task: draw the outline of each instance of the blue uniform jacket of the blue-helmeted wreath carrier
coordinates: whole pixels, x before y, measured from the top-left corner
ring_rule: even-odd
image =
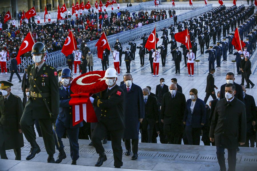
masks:
[[[73,126],[72,125],[72,106],[69,105],[71,99],[71,90],[69,88],[69,94],[67,94],[65,87],[63,85],[59,88],[60,95],[60,110],[59,115],[56,119],[56,124],[62,122],[66,128],[79,128],[83,126],[83,122]]]

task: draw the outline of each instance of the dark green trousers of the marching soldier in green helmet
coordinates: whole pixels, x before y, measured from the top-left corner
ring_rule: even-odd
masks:
[[[55,139],[53,134],[53,122],[55,122],[55,119],[38,119],[38,121],[47,154],[53,155],[55,154]],[[30,144],[37,143],[34,124],[35,119],[32,118],[32,110],[26,113],[24,112],[21,117],[20,125],[23,134]]]

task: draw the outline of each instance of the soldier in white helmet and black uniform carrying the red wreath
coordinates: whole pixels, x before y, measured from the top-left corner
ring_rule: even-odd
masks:
[[[102,166],[107,160],[102,139],[106,137],[107,132],[111,135],[113,158],[115,168],[120,168],[122,162],[121,139],[124,132],[124,114],[123,114],[123,90],[116,84],[117,71],[114,68],[108,68],[105,72],[105,83],[108,89],[101,92],[101,97],[90,97],[94,106],[101,108],[100,120],[97,123],[93,133],[92,142],[99,158],[95,166]]]

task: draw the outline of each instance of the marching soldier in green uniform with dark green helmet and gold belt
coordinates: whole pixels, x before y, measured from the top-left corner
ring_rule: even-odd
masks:
[[[44,62],[45,45],[37,42],[32,47],[33,61],[27,72],[29,76],[30,97],[26,103],[21,117],[21,129],[31,145],[31,150],[26,160],[31,160],[40,148],[34,135],[34,120],[38,119],[45,149],[47,151],[47,162],[54,163],[55,139],[53,134],[53,122],[59,114],[59,87],[57,70]]]

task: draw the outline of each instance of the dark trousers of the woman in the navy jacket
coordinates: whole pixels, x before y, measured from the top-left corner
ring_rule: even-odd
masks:
[[[192,126],[186,125],[186,137],[188,145],[200,145],[200,133],[201,128],[192,128]]]

